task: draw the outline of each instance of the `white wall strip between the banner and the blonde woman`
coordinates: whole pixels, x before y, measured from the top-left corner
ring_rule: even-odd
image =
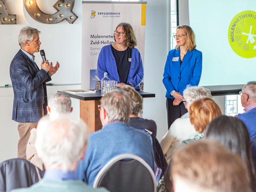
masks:
[[[143,118],[157,123],[157,138],[167,131],[165,87],[162,83],[169,49],[169,1],[149,0],[145,31],[144,91],[155,93],[155,98],[143,99]]]

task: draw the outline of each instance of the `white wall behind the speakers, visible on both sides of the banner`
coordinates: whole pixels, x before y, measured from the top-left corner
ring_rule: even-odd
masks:
[[[55,12],[52,8],[56,1],[41,0],[39,4],[48,14]],[[18,34],[23,26],[30,25],[42,31],[40,37],[46,57],[54,63],[60,62],[59,71],[53,76],[52,83],[81,83],[81,39],[82,39],[82,0],[76,0],[74,12],[79,16],[74,24],[63,21],[47,25],[34,21],[26,13],[21,0],[6,1],[10,14],[17,15],[17,25],[0,25],[0,86],[11,84],[9,66],[19,50]],[[158,139],[167,131],[167,114],[165,88],[162,83],[164,65],[169,47],[169,1],[149,0],[145,31],[145,70],[144,91],[156,94],[156,98],[145,98],[143,117],[153,119],[158,126]],[[90,27],[90,26],[88,26]],[[36,63],[41,63],[39,53],[35,54]],[[40,66],[39,66],[40,67]],[[89,77],[88,77],[89,78]],[[80,89],[81,86],[48,87],[48,96],[64,89]],[[17,123],[12,121],[13,90],[0,88],[0,162],[17,157],[18,131]],[[74,114],[79,116],[79,101],[72,99]]]

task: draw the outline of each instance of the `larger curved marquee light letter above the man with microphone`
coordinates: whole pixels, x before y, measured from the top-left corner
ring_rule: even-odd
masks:
[[[35,21],[46,24],[55,24],[67,20],[68,23],[73,24],[78,19],[78,16],[74,12],[72,12],[75,5],[75,0],[57,1],[56,4],[54,4],[53,6],[57,10],[57,12],[52,15],[48,15],[42,12],[39,9],[36,1],[37,0],[24,0],[24,5],[27,13]]]

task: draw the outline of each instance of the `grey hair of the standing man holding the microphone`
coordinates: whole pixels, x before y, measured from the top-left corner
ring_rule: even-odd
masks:
[[[20,30],[20,34],[19,34],[19,46],[20,48],[25,46],[25,41],[28,40],[29,42],[32,42],[34,39],[34,34],[35,33],[40,33],[41,31],[39,31],[38,29],[32,28],[30,26],[26,26],[23,27]]]

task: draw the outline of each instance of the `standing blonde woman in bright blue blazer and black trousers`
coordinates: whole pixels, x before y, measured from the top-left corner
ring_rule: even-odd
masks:
[[[182,102],[183,91],[187,85],[198,86],[202,73],[202,52],[196,50],[192,28],[178,26],[173,37],[177,45],[168,53],[163,75],[168,129],[177,118],[188,112]]]

